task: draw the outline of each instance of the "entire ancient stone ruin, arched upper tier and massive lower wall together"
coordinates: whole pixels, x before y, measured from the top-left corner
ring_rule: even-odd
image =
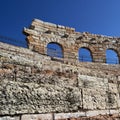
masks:
[[[119,38],[76,32],[33,20],[24,28],[28,48],[0,42],[0,120],[119,120]],[[61,46],[48,54],[47,45]],[[87,48],[91,62],[79,60]],[[55,55],[53,53],[55,52]]]

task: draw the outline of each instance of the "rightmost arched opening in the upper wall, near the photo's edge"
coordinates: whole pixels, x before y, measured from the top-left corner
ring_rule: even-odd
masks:
[[[107,64],[119,64],[118,54],[113,49],[106,50],[106,63]]]

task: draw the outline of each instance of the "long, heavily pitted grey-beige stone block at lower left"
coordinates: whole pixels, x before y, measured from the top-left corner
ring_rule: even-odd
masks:
[[[2,80],[0,114],[76,111],[81,107],[78,88]]]

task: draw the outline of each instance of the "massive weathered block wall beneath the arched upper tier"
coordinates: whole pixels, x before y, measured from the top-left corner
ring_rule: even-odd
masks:
[[[119,81],[119,65],[64,63],[0,43],[1,120],[119,113]]]

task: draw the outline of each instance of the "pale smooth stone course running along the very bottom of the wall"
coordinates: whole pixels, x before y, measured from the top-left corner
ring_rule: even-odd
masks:
[[[112,120],[119,120],[119,110],[95,110],[75,113],[46,113],[46,114],[24,114],[18,116],[3,116],[0,120],[93,120],[97,116],[111,117]],[[115,119],[114,119],[115,118]],[[92,120],[92,119],[90,119]],[[101,120],[101,119],[100,119]],[[104,119],[102,119],[104,120]],[[107,118],[105,119],[107,120]]]

